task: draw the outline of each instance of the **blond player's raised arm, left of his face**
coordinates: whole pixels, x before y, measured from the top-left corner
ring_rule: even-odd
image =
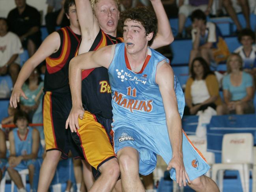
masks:
[[[88,52],[99,33],[99,24],[94,17],[90,0],[75,0],[82,40],[78,54]]]

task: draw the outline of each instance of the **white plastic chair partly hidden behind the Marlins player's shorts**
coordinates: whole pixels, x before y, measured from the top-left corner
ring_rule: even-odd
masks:
[[[215,155],[212,152],[207,151],[207,140],[206,138],[199,138],[196,135],[188,135],[189,140],[194,144],[194,146],[204,155],[207,163],[211,166],[211,164],[215,163]],[[210,171],[206,173],[206,176],[210,177]],[[183,191],[183,186],[179,187],[179,185],[173,181],[173,192]]]

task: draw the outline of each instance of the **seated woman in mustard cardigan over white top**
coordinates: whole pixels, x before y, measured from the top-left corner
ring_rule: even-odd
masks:
[[[208,106],[216,109],[222,104],[217,78],[202,57],[194,58],[191,63],[191,77],[187,80],[185,101],[187,106],[184,115],[195,115],[200,110],[206,110]]]

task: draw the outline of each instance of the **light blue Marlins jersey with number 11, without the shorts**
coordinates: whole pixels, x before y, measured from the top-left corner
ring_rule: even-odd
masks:
[[[142,71],[131,70],[125,54],[125,44],[116,45],[114,58],[108,67],[112,89],[113,119],[149,124],[166,122],[163,100],[155,82],[157,65],[169,60],[155,50],[148,48],[148,56]],[[179,114],[183,115],[185,99],[178,79],[174,76]]]

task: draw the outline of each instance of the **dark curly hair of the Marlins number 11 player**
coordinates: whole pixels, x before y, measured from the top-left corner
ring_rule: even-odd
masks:
[[[140,24],[142,24],[142,26],[145,28],[145,36],[153,32],[153,37],[148,42],[148,46],[152,45],[155,35],[157,34],[157,17],[155,15],[155,12],[151,8],[136,7],[125,10],[121,13],[120,17],[122,27],[126,20],[140,22]]]

